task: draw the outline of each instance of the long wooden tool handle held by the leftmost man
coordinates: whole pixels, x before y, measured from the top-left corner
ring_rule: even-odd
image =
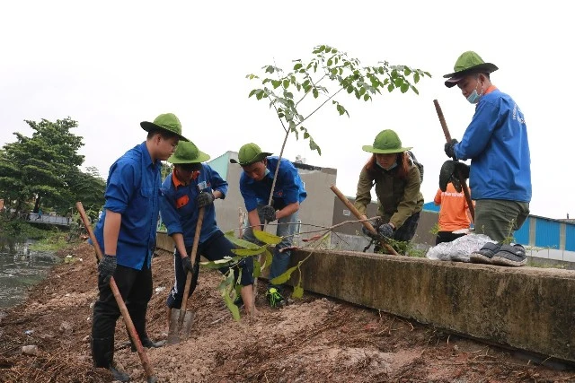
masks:
[[[96,250],[96,257],[98,257],[98,260],[101,261],[102,248],[100,248],[98,240],[93,235],[92,226],[90,225],[88,217],[86,217],[86,213],[84,212],[84,206],[81,202],[76,202],[75,208],[78,210],[78,213],[80,213],[80,218],[82,218],[82,222],[84,222],[86,231],[88,231],[88,236],[90,239],[92,239],[93,248]],[[142,367],[144,367],[144,370],[146,371],[146,377],[148,378],[148,381],[154,381],[154,379],[156,379],[154,376],[154,370],[152,369],[150,361],[147,359],[147,355],[144,351],[144,347],[142,347],[140,337],[137,335],[136,327],[134,327],[134,322],[132,322],[132,318],[129,316],[128,308],[126,307],[124,300],[122,300],[122,296],[118,290],[118,285],[116,284],[113,276],[110,278],[110,288],[111,292],[114,294],[116,302],[118,303],[119,312],[122,314],[122,318],[124,318],[124,322],[128,328],[128,334],[130,338],[132,338],[132,342],[134,342],[136,345],[137,355],[140,357],[140,361],[142,361]]]

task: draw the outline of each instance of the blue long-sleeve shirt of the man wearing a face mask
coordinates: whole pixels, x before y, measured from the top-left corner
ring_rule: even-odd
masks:
[[[484,94],[456,157],[471,159],[472,199],[531,201],[531,158],[523,113],[508,94]]]

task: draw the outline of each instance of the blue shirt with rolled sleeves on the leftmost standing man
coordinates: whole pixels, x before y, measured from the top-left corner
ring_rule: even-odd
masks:
[[[146,142],[130,149],[111,165],[106,202],[94,235],[104,251],[106,210],[122,214],[116,259],[118,265],[141,270],[152,265],[160,196],[160,161],[152,162]]]

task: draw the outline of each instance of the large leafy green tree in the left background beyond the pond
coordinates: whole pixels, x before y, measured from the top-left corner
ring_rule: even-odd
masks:
[[[71,133],[77,122],[64,118],[26,123],[34,131],[31,137],[16,132],[16,141],[0,150],[0,195],[14,209],[13,215],[24,211],[27,203],[34,213],[45,205],[63,215],[78,199],[88,206],[102,205],[103,179],[95,169],[79,169],[84,156],[78,150],[84,144],[81,136]]]

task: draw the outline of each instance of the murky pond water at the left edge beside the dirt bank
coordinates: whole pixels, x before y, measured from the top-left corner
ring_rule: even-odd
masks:
[[[31,243],[0,239],[0,311],[25,300],[28,289],[44,279],[59,261],[51,252],[30,250]]]

